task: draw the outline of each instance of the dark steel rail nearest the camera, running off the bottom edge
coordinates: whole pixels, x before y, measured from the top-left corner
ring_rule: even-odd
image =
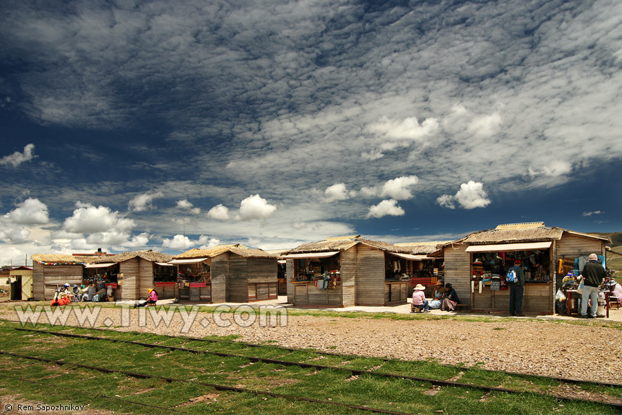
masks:
[[[358,409],[358,410],[361,410],[361,411],[376,412],[376,413],[379,413],[379,414],[414,415],[414,414],[409,414],[409,413],[406,413],[406,412],[395,412],[395,411],[388,411],[386,409],[378,409],[378,408],[372,408],[372,407],[367,407],[367,406],[359,406],[359,405],[350,405],[348,403],[339,403],[339,402],[334,402],[332,400],[320,400],[320,399],[313,399],[313,398],[305,398],[303,396],[275,394],[274,392],[257,391],[257,390],[254,390],[254,389],[244,389],[244,388],[233,387],[233,386],[226,386],[226,385],[216,385],[214,383],[199,382],[197,380],[167,378],[167,377],[164,377],[164,376],[156,376],[156,375],[149,375],[149,374],[139,374],[139,373],[129,372],[129,371],[107,369],[105,367],[95,367],[95,366],[81,365],[79,363],[66,362],[64,360],[53,360],[53,359],[48,359],[48,358],[39,358],[37,356],[21,355],[21,354],[18,354],[18,353],[11,353],[11,352],[8,352],[8,351],[0,351],[0,355],[12,356],[14,358],[20,358],[20,359],[39,360],[41,362],[54,363],[55,365],[59,365],[59,366],[62,366],[62,365],[74,366],[74,367],[79,367],[81,369],[89,369],[89,370],[100,371],[100,372],[105,373],[105,374],[122,374],[122,375],[125,375],[125,376],[131,376],[133,378],[139,378],[139,379],[159,379],[159,380],[164,380],[166,382],[193,383],[195,385],[202,385],[202,386],[211,387],[211,388],[214,388],[214,389],[216,389],[218,391],[231,391],[231,392],[239,392],[239,393],[246,392],[246,393],[255,394],[255,395],[272,396],[273,398],[285,398],[285,399],[290,399],[290,400],[301,400],[303,402],[319,403],[319,404],[325,404],[325,405],[336,405],[336,406],[340,406],[340,407],[348,407],[350,409]]]

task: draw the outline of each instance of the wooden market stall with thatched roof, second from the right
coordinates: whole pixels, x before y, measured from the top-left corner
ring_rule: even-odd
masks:
[[[405,250],[359,235],[305,243],[287,260],[288,302],[296,306],[406,304],[411,286]]]

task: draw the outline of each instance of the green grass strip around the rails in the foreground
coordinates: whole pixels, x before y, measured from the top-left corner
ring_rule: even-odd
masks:
[[[18,324],[0,322],[3,351],[28,354],[57,360],[133,371],[170,378],[196,380],[197,382],[244,387],[257,391],[306,396],[352,405],[368,405],[381,409],[413,414],[614,414],[616,411],[592,403],[565,402],[563,406],[555,398],[531,393],[517,396],[462,387],[435,389],[429,382],[408,379],[382,378],[371,374],[352,376],[349,371],[326,369],[316,371],[301,367],[281,366],[256,362],[249,364],[243,357],[223,358],[214,355],[196,355],[185,351],[149,349],[133,344],[121,344],[102,340],[59,338],[49,334],[29,333],[12,329]],[[58,330],[58,328],[55,328]],[[153,333],[101,332],[88,329],[66,328],[71,333],[89,333],[123,340],[140,339],[144,342],[184,341]],[[481,385],[513,387],[527,391],[546,391],[558,386],[547,378],[511,375],[478,368],[450,367],[432,360],[415,362],[384,362],[377,358],[354,358],[352,356],[323,356],[315,351],[248,348],[243,344],[218,344],[188,342],[187,347],[200,344],[218,351],[247,353],[255,356],[279,355],[283,360],[314,362],[319,365],[341,365],[408,376],[451,379],[462,376],[460,382]],[[88,369],[57,366],[0,356],[0,374],[11,374],[24,380],[0,376],[0,388],[19,391],[24,400],[39,403],[86,403],[91,409],[106,409],[119,414],[164,414],[185,412],[202,414],[359,414],[355,409],[334,405],[304,403],[284,398],[255,396],[254,394],[218,392],[196,382],[166,383],[156,379],[140,380],[121,374],[101,374]],[[590,386],[587,386],[589,389]],[[608,388],[611,396],[621,396],[622,387]],[[587,390],[586,389],[586,390]],[[430,393],[430,392],[433,393]],[[6,393],[6,392],[5,392]],[[115,396],[135,403],[149,403],[167,409],[147,408],[140,405],[113,400]],[[106,397],[102,397],[106,396]],[[210,397],[211,398],[206,398]],[[198,398],[198,399],[197,399]],[[216,399],[216,400],[214,400]],[[183,405],[183,406],[178,406]]]

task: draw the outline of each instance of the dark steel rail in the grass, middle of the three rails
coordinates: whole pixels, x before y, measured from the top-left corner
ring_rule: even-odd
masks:
[[[414,380],[414,381],[417,381],[417,382],[428,382],[428,383],[430,383],[431,385],[434,385],[434,386],[466,387],[466,388],[469,388],[469,389],[480,389],[482,391],[487,391],[487,392],[491,392],[491,391],[506,392],[508,394],[539,394],[539,395],[543,395],[543,396],[550,396],[552,398],[561,399],[561,400],[568,400],[568,401],[572,401],[572,402],[603,403],[603,402],[599,402],[599,401],[596,401],[596,400],[590,400],[590,399],[569,398],[569,397],[565,397],[565,396],[556,396],[555,394],[543,394],[543,393],[540,393],[538,391],[520,391],[520,390],[517,390],[517,389],[506,389],[506,388],[501,388],[501,387],[474,385],[474,384],[471,384],[471,383],[454,382],[454,381],[451,381],[451,380],[437,380],[437,379],[431,379],[431,378],[420,378],[420,377],[416,377],[416,376],[406,376],[406,375],[390,374],[390,373],[378,372],[378,371],[348,369],[347,367],[315,365],[313,363],[292,362],[292,361],[289,361],[289,360],[276,360],[276,359],[271,359],[271,358],[259,358],[259,357],[256,357],[256,356],[236,355],[236,354],[232,354],[232,353],[222,353],[222,352],[217,352],[217,351],[205,351],[205,350],[197,350],[197,349],[187,349],[186,347],[165,346],[163,344],[152,344],[152,343],[144,343],[144,342],[135,342],[135,341],[132,341],[132,340],[121,340],[121,339],[113,339],[113,338],[100,338],[100,337],[91,336],[91,335],[82,335],[82,334],[74,334],[74,333],[62,333],[62,332],[58,332],[58,331],[37,330],[37,329],[15,328],[15,330],[18,330],[18,331],[29,331],[29,332],[35,332],[35,333],[48,334],[48,335],[57,335],[59,337],[66,337],[66,338],[84,338],[86,340],[105,340],[105,341],[109,341],[109,342],[120,342],[120,343],[124,343],[124,344],[135,344],[137,346],[149,347],[149,348],[169,349],[171,351],[187,351],[189,353],[195,353],[195,354],[211,354],[211,355],[225,357],[225,358],[245,358],[245,359],[249,360],[250,362],[264,362],[264,363],[270,363],[270,364],[275,364],[275,365],[297,366],[297,367],[304,367],[304,368],[317,369],[317,370],[332,369],[332,370],[339,370],[339,371],[349,371],[352,375],[357,375],[357,376],[361,376],[361,375],[367,374],[367,375],[370,375],[370,376],[378,376],[378,377],[384,377],[384,378],[397,378],[397,379]],[[620,403],[620,404],[619,403],[603,403],[603,404],[614,406],[616,408],[622,409],[622,403]]]

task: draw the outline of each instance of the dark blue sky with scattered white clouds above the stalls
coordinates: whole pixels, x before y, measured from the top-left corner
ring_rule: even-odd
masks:
[[[619,1],[0,10],[0,264],[622,230]]]

